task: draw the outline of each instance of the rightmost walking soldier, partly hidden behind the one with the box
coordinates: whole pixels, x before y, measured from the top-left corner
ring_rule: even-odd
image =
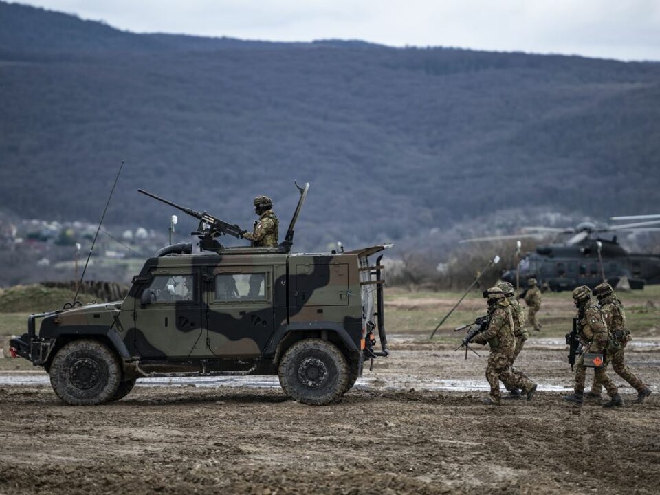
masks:
[[[608,283],[597,285],[592,294],[598,298],[598,305],[603,314],[605,323],[610,331],[610,335],[617,341],[619,347],[612,347],[609,352],[609,360],[612,362],[612,367],[621,378],[626,380],[637,391],[637,402],[642,402],[646,397],[651,395],[651,389],[644,385],[641,380],[632,373],[626,362],[624,361],[624,349],[632,337],[630,331],[626,329],[626,311],[624,305],[617,298],[614,289]],[[603,386],[593,381],[591,391],[585,395],[591,399],[599,399],[602,393]]]

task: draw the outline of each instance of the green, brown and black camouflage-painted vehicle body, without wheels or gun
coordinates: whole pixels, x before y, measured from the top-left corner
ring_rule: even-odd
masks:
[[[202,366],[205,371],[265,374],[263,367],[254,369],[256,364],[265,364],[267,373],[276,373],[277,346],[292,327],[300,332],[329,329],[345,352],[359,355],[365,329],[373,320],[371,290],[375,285],[369,284],[370,272],[365,270],[366,256],[371,254],[228,248],[218,254],[151,258],[123,302],[47,315],[37,334],[54,338],[85,335],[92,326],[111,329],[126,348],[125,373],[135,371],[131,364],[135,362],[146,371],[157,371],[158,366],[172,371],[173,361],[180,362],[177,371]],[[218,277],[221,283],[238,281],[231,298],[222,296],[228,292],[218,285]],[[162,285],[162,280],[168,284],[192,280],[192,287],[188,283],[185,290],[181,285]],[[259,287],[253,284],[255,280]],[[161,285],[156,287],[155,281]],[[148,289],[157,298],[145,303]],[[250,295],[254,291],[258,296]]]

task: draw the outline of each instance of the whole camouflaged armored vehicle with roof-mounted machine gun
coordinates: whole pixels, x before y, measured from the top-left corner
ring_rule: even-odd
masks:
[[[165,201],[200,219],[201,252],[163,248],[123,301],[33,314],[12,353],[43,366],[74,405],[121,399],[136,380],[158,376],[278,375],[296,401],[340,398],[365,360],[388,354],[383,256],[369,261],[388,245],[291,252],[308,188],[274,248],[225,248],[218,236],[244,231]]]

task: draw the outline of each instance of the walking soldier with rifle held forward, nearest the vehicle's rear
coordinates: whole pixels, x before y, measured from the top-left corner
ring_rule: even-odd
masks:
[[[483,292],[488,300],[488,328],[479,333],[472,342],[488,344],[490,355],[486,366],[486,380],[490,384],[490,396],[483,399],[484,404],[500,404],[500,380],[511,388],[519,388],[531,401],[536,393],[536,383],[524,375],[511,372],[511,362],[516,351],[514,337],[514,317],[511,316],[509,300],[499,287],[491,287]]]

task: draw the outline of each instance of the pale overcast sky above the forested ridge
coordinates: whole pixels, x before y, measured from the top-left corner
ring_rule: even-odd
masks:
[[[660,61],[660,0],[23,0],[134,32]]]

